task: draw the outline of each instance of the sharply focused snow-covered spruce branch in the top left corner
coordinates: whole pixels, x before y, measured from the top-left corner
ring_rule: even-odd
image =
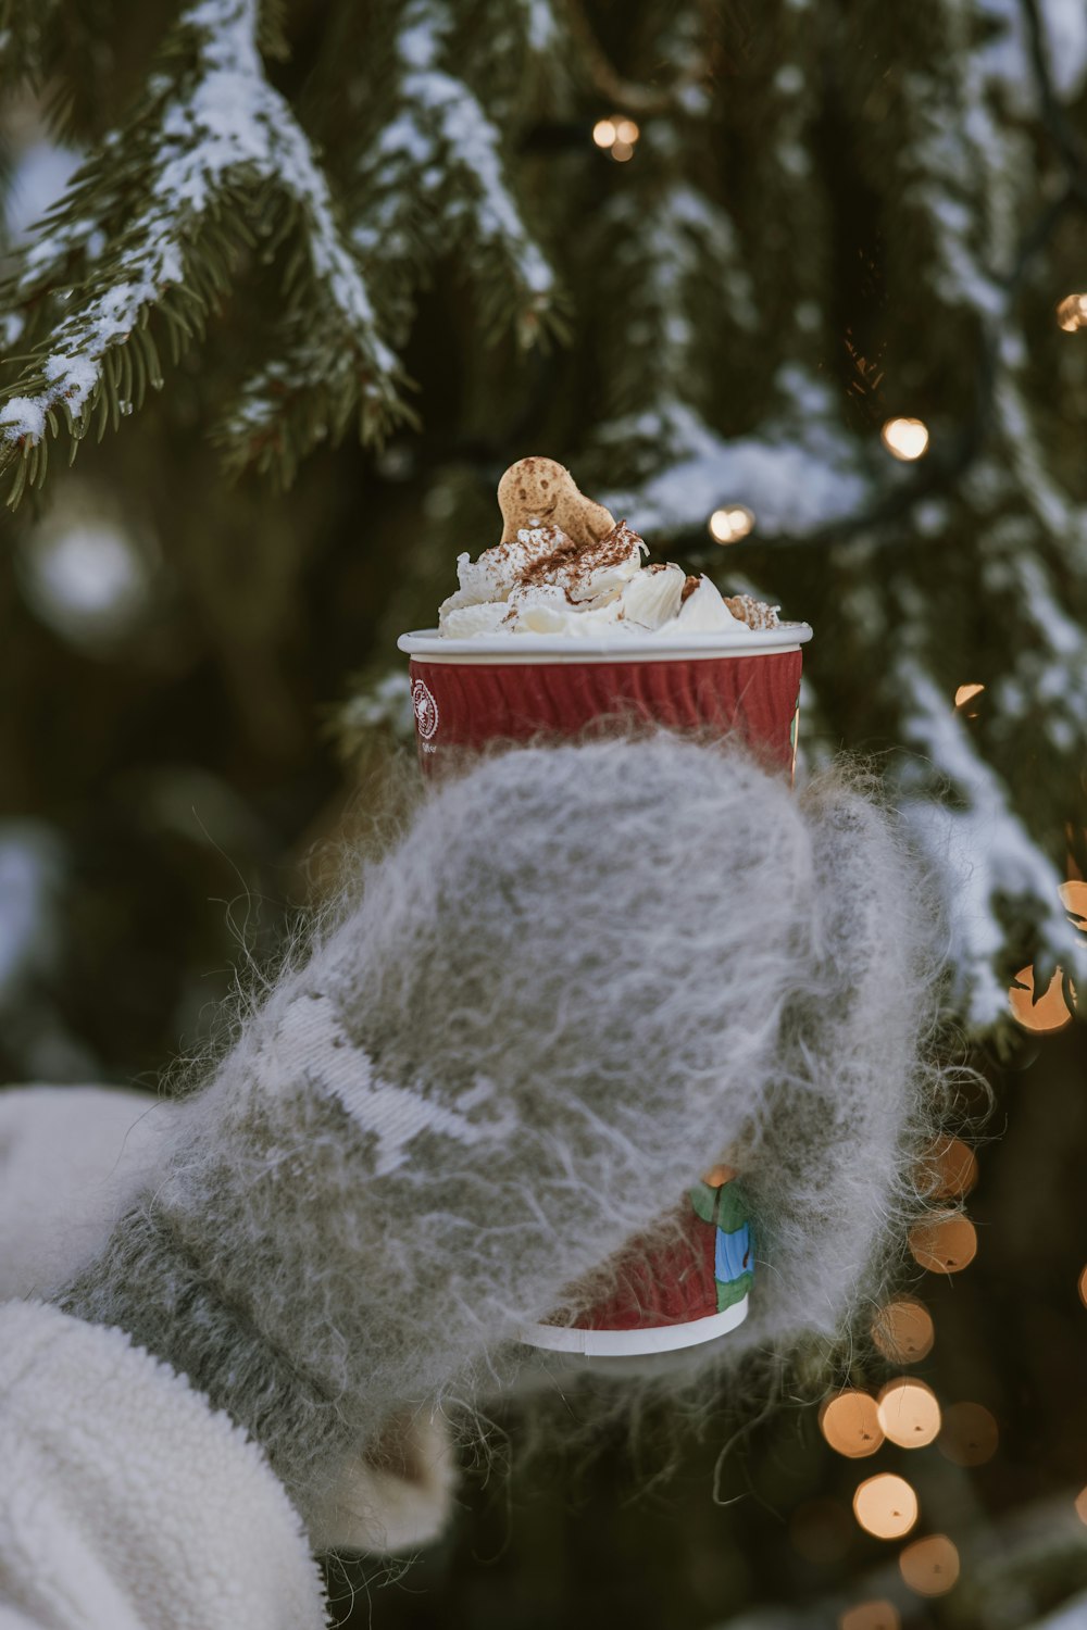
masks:
[[[106,394],[116,417],[130,411],[145,378],[161,383],[148,315],[168,318],[181,349],[222,295],[231,251],[269,231],[269,220],[279,240],[297,230],[305,246],[295,285],[306,285],[316,313],[311,350],[349,359],[367,422],[396,412],[396,359],[324,174],[288,103],[264,78],[256,39],[256,0],[189,7],[140,112],[106,139],[24,253],[5,290],[7,339],[20,337],[46,297],[57,319],[0,409],[3,465],[29,455],[31,479],[44,474],[37,453],[59,416],[78,438]],[[249,225],[254,191],[266,209],[251,210]],[[202,264],[212,249],[218,262]]]

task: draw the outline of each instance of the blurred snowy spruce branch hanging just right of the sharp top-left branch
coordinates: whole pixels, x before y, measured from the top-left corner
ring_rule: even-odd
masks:
[[[546,0],[520,0],[528,44],[554,37]],[[525,225],[502,163],[504,137],[464,80],[443,65],[453,8],[409,0],[394,42],[394,116],[363,155],[368,204],[352,230],[359,254],[394,271],[427,253],[460,248],[486,259],[487,282],[512,310],[523,344],[539,337],[556,305],[556,275]]]

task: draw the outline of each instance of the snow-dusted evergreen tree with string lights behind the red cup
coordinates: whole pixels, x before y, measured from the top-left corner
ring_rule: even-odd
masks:
[[[298,740],[315,536],[365,513],[380,675],[502,468],[562,458],[813,623],[808,750],[883,756],[992,1025],[1020,965],[1074,970],[1087,861],[1084,33],[1071,0],[11,0],[5,83],[80,155],[0,290],[16,526],[119,432],[80,469],[152,515],[160,615]]]

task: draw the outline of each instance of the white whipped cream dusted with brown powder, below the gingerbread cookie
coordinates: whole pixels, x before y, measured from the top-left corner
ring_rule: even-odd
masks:
[[[624,520],[603,538],[572,543],[557,526],[523,526],[471,561],[458,556],[460,588],[438,610],[450,639],[481,634],[755,632],[772,628],[771,606],[740,595],[733,608],[709,577],[681,566],[645,566],[647,546]],[[748,606],[758,615],[750,615]],[[737,615],[738,613],[738,615]]]

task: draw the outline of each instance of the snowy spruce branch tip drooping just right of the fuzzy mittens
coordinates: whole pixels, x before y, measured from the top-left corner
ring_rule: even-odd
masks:
[[[975,751],[948,698],[913,659],[900,663],[898,683],[903,738],[929,761],[909,760],[900,773],[903,815],[945,882],[957,994],[968,1024],[984,1030],[1007,1012],[1007,980],[999,975],[1007,942],[1001,901],[1020,908],[1036,926],[1041,947],[1067,971],[1084,963],[1084,947],[1061,906],[1059,872],[1012,810],[996,771]],[[932,771],[966,808],[948,808],[932,797]]]

